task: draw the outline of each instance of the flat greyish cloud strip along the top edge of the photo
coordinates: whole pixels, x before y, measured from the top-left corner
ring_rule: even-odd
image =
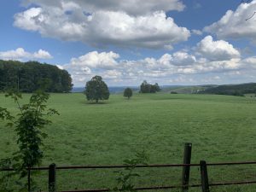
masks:
[[[84,11],[89,13],[96,12],[98,10],[114,12],[123,11],[128,15],[145,15],[158,10],[182,11],[185,8],[185,5],[180,0],[23,0],[23,5],[28,6],[31,4],[48,7],[62,7],[64,9],[82,7],[84,8]]]

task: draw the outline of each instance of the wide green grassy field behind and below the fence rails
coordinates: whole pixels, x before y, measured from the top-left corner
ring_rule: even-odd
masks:
[[[25,101],[29,95],[24,95]],[[137,94],[128,101],[111,95],[91,104],[82,94],[51,94],[49,107],[61,113],[47,127],[42,166],[113,165],[143,149],[148,163],[182,163],[183,144],[193,143],[192,163],[256,160],[256,99],[240,96]],[[0,106],[16,112],[15,103],[0,95]],[[0,122],[0,159],[15,152],[15,132]],[[181,168],[139,169],[137,186],[180,183]],[[256,167],[209,168],[210,182],[256,180]],[[47,189],[47,172],[38,176]],[[59,171],[59,190],[111,187],[113,170]],[[191,183],[200,172],[191,169]],[[212,191],[256,191],[253,187],[219,187]],[[256,186],[254,185],[254,188]],[[236,189],[236,190],[235,190]],[[192,190],[191,190],[192,191]],[[200,191],[200,189],[195,189]]]

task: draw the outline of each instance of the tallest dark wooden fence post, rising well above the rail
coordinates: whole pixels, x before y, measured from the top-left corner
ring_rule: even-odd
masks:
[[[191,151],[192,151],[192,143],[185,143],[184,147],[184,156],[183,156],[183,164],[190,164],[191,161]],[[189,172],[190,166],[183,166],[183,175],[182,175],[182,191],[189,191]]]

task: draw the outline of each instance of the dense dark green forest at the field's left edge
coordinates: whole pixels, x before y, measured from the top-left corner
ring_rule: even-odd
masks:
[[[38,61],[0,60],[0,91],[44,89],[47,92],[70,92],[72,88],[70,74],[56,66]]]

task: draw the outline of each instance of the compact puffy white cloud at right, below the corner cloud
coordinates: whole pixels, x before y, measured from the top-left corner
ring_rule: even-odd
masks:
[[[196,49],[210,61],[228,61],[240,57],[239,51],[232,44],[224,40],[213,41],[212,36],[203,38]]]

